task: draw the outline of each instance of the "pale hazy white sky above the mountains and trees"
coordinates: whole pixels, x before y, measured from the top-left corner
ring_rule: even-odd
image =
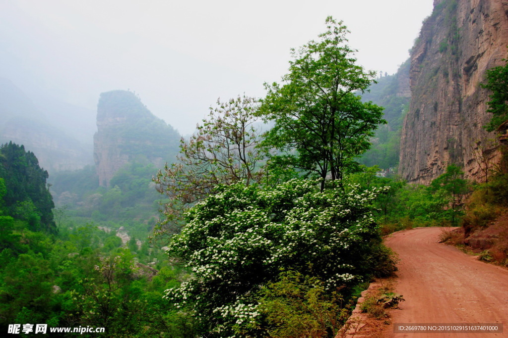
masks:
[[[432,0],[0,0],[0,77],[93,110],[101,92],[130,89],[187,134],[218,97],[263,96],[327,16],[351,30],[359,64],[392,74],[431,10]]]

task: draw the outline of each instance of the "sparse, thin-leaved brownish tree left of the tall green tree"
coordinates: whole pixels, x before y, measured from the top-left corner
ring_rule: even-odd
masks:
[[[257,149],[261,133],[256,127],[259,119],[253,115],[257,105],[255,98],[247,96],[217,100],[196,133],[180,141],[176,163],[166,164],[153,179],[157,191],[169,198],[160,235],[178,232],[182,212],[214,194],[217,185],[261,180],[262,155]]]

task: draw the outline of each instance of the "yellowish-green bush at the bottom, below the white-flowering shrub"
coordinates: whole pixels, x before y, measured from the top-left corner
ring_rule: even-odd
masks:
[[[259,309],[270,337],[335,337],[348,315],[340,294],[330,294],[319,279],[293,271],[281,272],[261,295]]]

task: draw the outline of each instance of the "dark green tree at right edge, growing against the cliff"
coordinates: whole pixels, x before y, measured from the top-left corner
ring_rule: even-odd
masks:
[[[508,61],[508,59],[503,59]],[[481,86],[492,91],[487,102],[488,112],[492,113],[492,119],[485,126],[487,131],[496,130],[501,123],[508,120],[508,62],[503,66],[497,66],[486,71],[487,83]]]

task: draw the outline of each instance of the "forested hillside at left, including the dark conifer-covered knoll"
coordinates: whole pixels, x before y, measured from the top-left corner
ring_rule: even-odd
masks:
[[[162,299],[185,275],[181,268],[146,241],[122,243],[114,230],[69,223],[61,209],[52,212],[48,175],[33,153],[9,143],[0,155],[2,332],[45,323],[106,327],[109,337],[192,336],[185,315]]]

